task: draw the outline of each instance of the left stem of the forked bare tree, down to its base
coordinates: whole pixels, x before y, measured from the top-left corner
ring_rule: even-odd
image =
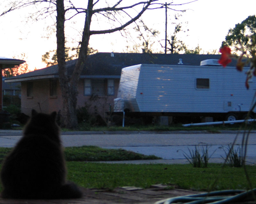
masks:
[[[75,108],[72,101],[72,91],[68,79],[68,72],[65,62],[65,35],[64,35],[64,22],[65,22],[65,9],[64,0],[56,0],[57,3],[57,60],[59,68],[59,81],[63,101],[62,125],[67,128],[74,128],[77,126],[77,117]]]

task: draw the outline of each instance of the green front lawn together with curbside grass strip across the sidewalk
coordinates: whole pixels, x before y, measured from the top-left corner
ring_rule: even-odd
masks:
[[[0,161],[11,151],[0,148]],[[118,186],[148,188],[152,184],[175,185],[183,189],[223,190],[249,189],[243,168],[209,164],[193,168],[191,164],[106,164],[86,161],[157,159],[125,150],[108,150],[95,146],[65,148],[68,180],[85,188],[113,189]],[[1,162],[0,162],[1,163]],[[1,164],[0,164],[1,168]],[[256,166],[247,166],[253,187],[256,187]],[[215,179],[216,184],[212,187]],[[0,191],[2,190],[0,184]]]

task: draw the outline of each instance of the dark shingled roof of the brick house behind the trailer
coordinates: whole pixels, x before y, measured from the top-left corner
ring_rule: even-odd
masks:
[[[137,64],[178,65],[182,59],[183,65],[199,66],[205,59],[220,59],[220,55],[197,54],[147,54],[147,53],[109,53],[98,52],[89,55],[81,73],[81,78],[120,78],[124,67]],[[68,75],[71,75],[76,59],[66,62]],[[235,67],[232,60],[229,66]],[[53,65],[43,69],[5,79],[6,82],[30,81],[46,78],[58,78],[58,66]]]

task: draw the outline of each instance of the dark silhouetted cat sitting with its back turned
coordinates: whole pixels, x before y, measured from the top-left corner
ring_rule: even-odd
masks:
[[[56,112],[48,115],[32,110],[23,137],[2,166],[3,198],[82,197],[75,184],[66,182],[66,165],[55,119]]]

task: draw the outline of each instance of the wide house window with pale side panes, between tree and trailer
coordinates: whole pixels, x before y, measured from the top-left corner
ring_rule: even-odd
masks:
[[[84,95],[114,95],[114,80],[113,79],[85,79],[84,80]]]

